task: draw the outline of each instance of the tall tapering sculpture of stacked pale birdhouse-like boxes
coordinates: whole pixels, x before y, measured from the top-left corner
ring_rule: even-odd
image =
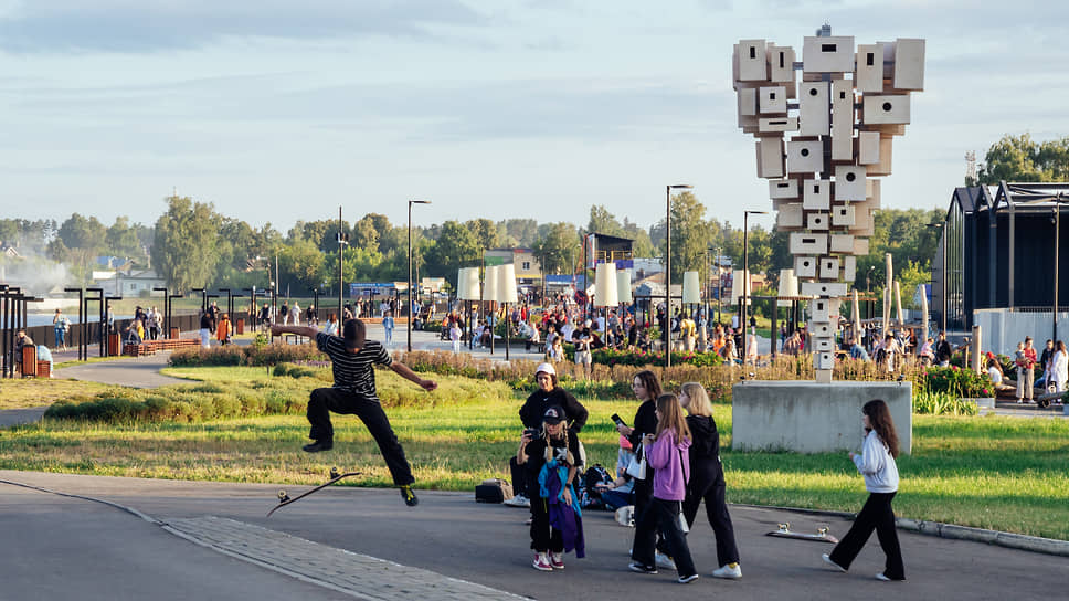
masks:
[[[811,348],[817,381],[830,381],[839,299],[868,254],[891,141],[910,123],[910,94],[924,89],[924,40],[860,44],[805,38],[802,61],[765,40],[734,45],[739,127],[758,138],[758,177],[771,180],[776,228],[813,296]],[[802,77],[797,77],[797,72]]]

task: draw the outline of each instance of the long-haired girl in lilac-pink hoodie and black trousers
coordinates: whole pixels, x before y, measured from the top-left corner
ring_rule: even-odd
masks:
[[[687,497],[690,477],[690,429],[675,394],[657,398],[657,433],[643,439],[646,462],[654,470],[654,498],[635,525],[632,571],[657,573],[654,552],[657,531],[665,535],[668,551],[676,562],[678,582],[698,579],[687,537],[680,525],[680,504]]]

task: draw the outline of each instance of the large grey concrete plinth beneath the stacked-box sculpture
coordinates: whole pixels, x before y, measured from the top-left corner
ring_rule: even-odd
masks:
[[[865,431],[861,407],[883,399],[898,431],[900,452],[910,454],[912,382],[749,380],[732,387],[731,449],[828,453],[858,451]]]

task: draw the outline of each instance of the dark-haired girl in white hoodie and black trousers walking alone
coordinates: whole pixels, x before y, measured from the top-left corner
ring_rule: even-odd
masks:
[[[898,466],[895,464],[895,457],[898,456],[898,433],[895,432],[895,422],[891,421],[891,413],[883,401],[865,403],[861,414],[865,442],[861,454],[851,452],[850,460],[865,476],[865,488],[869,492],[869,498],[857,514],[850,531],[823,559],[845,572],[872,536],[872,530],[876,530],[880,548],[887,555],[887,563],[883,571],[876,574],[877,580],[906,580],[902,549],[898,544],[895,512],[891,509],[891,499],[898,493]]]

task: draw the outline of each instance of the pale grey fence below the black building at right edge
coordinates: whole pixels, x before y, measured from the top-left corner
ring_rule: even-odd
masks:
[[[1063,307],[1059,307],[1061,309]],[[976,309],[973,324],[980,326],[983,350],[1013,356],[1017,342],[1031,336],[1036,348],[1054,335],[1050,308],[1019,307],[1012,309]],[[1058,338],[1069,340],[1069,310],[1058,312]]]

